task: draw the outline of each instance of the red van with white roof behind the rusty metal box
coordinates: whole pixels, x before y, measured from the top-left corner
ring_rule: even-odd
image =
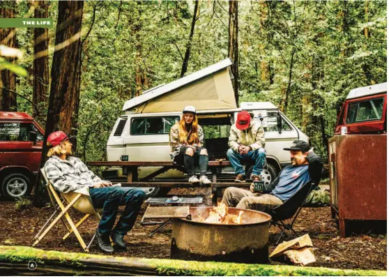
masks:
[[[335,135],[386,133],[386,82],[350,91],[337,117]]]

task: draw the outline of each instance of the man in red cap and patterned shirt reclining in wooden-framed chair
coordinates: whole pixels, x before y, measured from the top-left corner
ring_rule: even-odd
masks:
[[[125,249],[123,237],[130,231],[144,201],[144,191],[136,188],[112,186],[93,174],[82,160],[73,157],[70,137],[62,131],[51,133],[47,137],[49,160],[45,172],[52,186],[61,193],[73,192],[81,188],[89,190],[93,206],[102,209],[102,216],[96,236],[98,246],[103,252],[114,252],[109,236],[117,248]],[[119,206],[125,205],[124,213],[114,227]]]

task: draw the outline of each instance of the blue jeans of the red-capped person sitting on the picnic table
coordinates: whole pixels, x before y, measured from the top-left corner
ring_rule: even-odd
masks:
[[[243,159],[252,159],[255,161],[255,165],[252,168],[253,175],[260,175],[262,169],[264,169],[264,165],[266,162],[266,151],[263,148],[257,149],[255,151],[248,151],[247,154],[239,154],[232,149],[227,151],[228,160],[231,162],[232,167],[234,167],[236,174],[245,174],[245,169],[241,164],[241,160]]]

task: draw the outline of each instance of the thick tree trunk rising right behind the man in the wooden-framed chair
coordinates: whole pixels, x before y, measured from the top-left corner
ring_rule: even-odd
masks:
[[[77,121],[79,105],[79,56],[84,1],[59,1],[55,45],[65,47],[56,50],[52,63],[52,84],[43,142],[40,168],[47,160],[47,137],[55,130],[73,135],[73,123]],[[47,200],[44,183],[38,175],[35,183],[33,204],[43,206]]]

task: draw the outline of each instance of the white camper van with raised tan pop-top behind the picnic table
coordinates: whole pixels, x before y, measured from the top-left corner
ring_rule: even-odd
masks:
[[[107,160],[170,161],[170,128],[180,121],[185,105],[197,109],[209,160],[227,160],[229,130],[236,114],[246,110],[264,126],[267,164],[261,176],[265,183],[273,181],[282,167],[291,162],[289,152],[283,149],[294,140],[308,142],[309,138],[272,103],[241,103],[241,107],[236,107],[229,66],[231,60],[225,59],[125,102],[124,113],[117,119],[107,142]],[[142,178],[153,171],[155,167],[142,167],[138,176]],[[224,167],[222,174],[234,176],[233,167]],[[171,169],[156,179],[183,175]],[[146,194],[155,195],[156,191],[146,189]]]

